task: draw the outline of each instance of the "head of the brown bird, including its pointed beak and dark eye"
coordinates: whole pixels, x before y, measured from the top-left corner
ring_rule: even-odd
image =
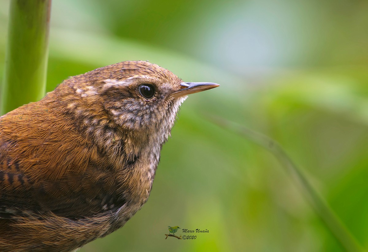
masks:
[[[80,99],[101,104],[115,123],[138,131],[171,129],[188,94],[219,86],[183,82],[169,70],[146,61],[123,61],[68,81]]]

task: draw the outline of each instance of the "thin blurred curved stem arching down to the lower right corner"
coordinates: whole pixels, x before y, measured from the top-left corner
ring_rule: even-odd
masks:
[[[284,168],[293,176],[294,180],[300,184],[304,189],[305,195],[311,202],[317,215],[323,220],[326,227],[335,236],[336,240],[342,245],[342,247],[348,252],[362,252],[364,251],[358,241],[348,231],[348,229],[341,222],[336,213],[328,206],[327,202],[319,195],[316,190],[308,182],[307,177],[303,172],[294,164],[290,157],[286,154],[283,148],[271,138],[247,129],[246,127],[237,125],[236,123],[229,122],[222,118],[210,118],[212,122],[223,127],[224,129],[235,132],[245,138],[250,139],[256,144],[269,150],[273,155],[279,159]]]

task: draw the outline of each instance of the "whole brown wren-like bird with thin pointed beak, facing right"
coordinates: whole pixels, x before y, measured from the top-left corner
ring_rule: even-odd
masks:
[[[1,116],[0,251],[72,251],[123,226],[148,199],[180,104],[217,86],[125,61]]]

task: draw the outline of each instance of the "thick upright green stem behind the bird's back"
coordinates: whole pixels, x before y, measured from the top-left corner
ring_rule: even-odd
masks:
[[[45,95],[51,0],[11,0],[1,115]]]

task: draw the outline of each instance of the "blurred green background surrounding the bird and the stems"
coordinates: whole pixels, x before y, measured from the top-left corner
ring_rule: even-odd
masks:
[[[221,84],[184,102],[146,205],[80,251],[343,251],[277,160],[208,114],[278,141],[367,249],[367,27],[367,0],[54,0],[47,91],[124,60]]]

